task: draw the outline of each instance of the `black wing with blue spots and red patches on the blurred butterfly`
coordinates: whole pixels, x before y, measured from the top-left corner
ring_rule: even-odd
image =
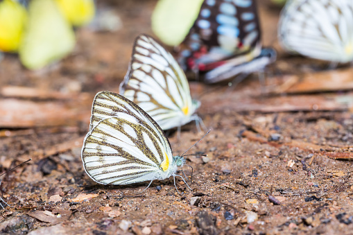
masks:
[[[209,71],[223,60],[261,52],[261,31],[253,0],[205,0],[184,42],[177,48],[183,69]],[[241,62],[251,58],[243,57]]]

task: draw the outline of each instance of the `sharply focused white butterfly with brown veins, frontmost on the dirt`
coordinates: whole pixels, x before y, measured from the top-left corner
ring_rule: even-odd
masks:
[[[187,184],[176,173],[185,164],[185,153],[173,156],[162,128],[132,101],[113,92],[96,94],[82,148],[83,166],[95,182],[151,184],[173,176],[175,184],[179,176]]]

